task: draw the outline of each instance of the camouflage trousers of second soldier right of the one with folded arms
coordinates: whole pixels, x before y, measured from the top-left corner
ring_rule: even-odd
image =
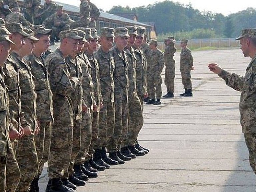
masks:
[[[92,114],[92,110],[82,114],[80,150],[75,157],[75,164],[77,165],[83,164],[91,158],[88,152],[92,140]]]

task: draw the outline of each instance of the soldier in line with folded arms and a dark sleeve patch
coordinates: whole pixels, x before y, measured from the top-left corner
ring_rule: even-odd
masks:
[[[69,182],[67,177],[64,177],[64,170],[70,164],[73,144],[74,113],[70,94],[76,89],[79,80],[76,77],[70,77],[65,58],[73,52],[77,52],[79,39],[82,37],[78,36],[75,31],[60,32],[60,47],[46,58],[54,109],[54,125],[48,160],[47,192],[72,192],[73,189],[76,189],[76,186]]]

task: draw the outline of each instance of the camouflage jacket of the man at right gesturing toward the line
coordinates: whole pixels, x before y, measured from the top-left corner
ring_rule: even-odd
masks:
[[[239,110],[243,133],[256,133],[256,55],[248,65],[245,76],[225,70],[222,70],[219,76],[229,87],[242,92]]]

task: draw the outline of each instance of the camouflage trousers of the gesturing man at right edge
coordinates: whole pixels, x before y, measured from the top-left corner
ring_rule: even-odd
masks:
[[[249,151],[249,163],[256,174],[256,133],[244,134],[244,138]]]

